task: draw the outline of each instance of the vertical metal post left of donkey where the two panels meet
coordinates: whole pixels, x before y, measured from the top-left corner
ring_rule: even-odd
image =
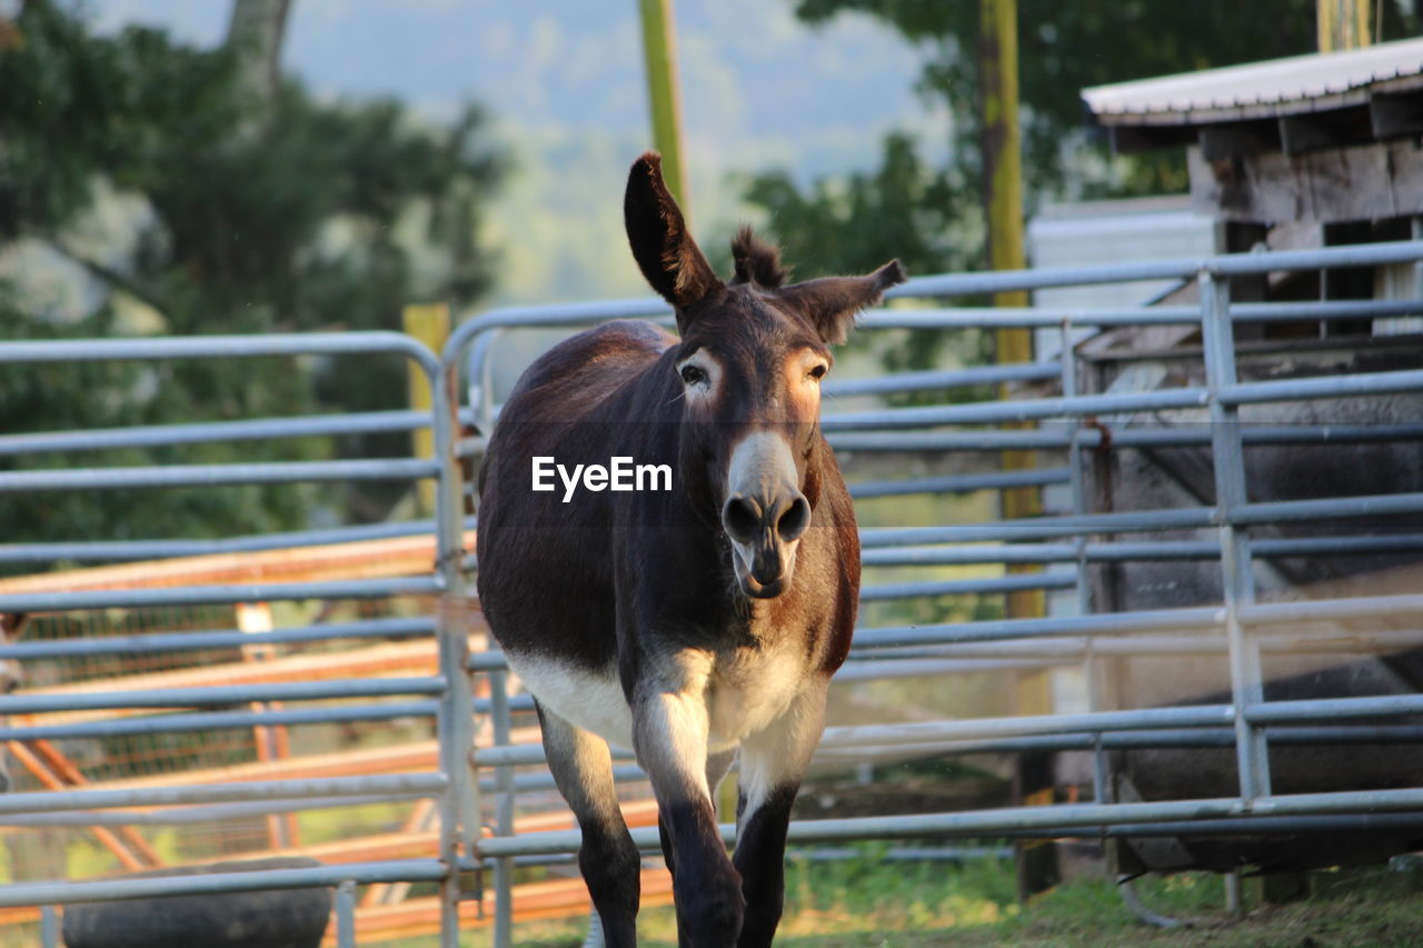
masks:
[[[434,406],[434,451],[440,461],[435,495],[435,568],[441,596],[435,635],[440,651],[440,770],[448,784],[440,796],[440,855],[448,875],[441,885],[440,947],[460,945],[462,861],[474,858],[480,831],[474,749],[474,695],[470,688],[470,594],[464,578],[464,471],[458,455],[460,366],[443,360],[430,380]]]

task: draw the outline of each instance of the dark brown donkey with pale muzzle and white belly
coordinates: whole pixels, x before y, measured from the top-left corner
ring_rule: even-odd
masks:
[[[791,803],[850,649],[859,541],[820,431],[828,344],[904,282],[783,286],[778,251],[743,228],[723,283],[639,158],[623,215],[633,258],[680,339],[612,322],[555,346],[504,406],[481,470],[478,592],[532,692],[579,867],[612,948],[636,944],[639,854],[608,744],[632,747],[657,799],[679,942],[770,945]],[[532,458],[670,465],[670,490],[532,490]],[[586,468],[585,468],[586,470]],[[606,484],[602,484],[606,485]],[[714,791],[740,749],[737,846]]]

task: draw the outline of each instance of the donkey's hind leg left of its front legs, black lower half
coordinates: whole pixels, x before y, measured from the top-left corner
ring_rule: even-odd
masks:
[[[633,948],[638,944],[642,858],[618,807],[608,743],[542,705],[538,705],[538,717],[548,769],[583,831],[578,868],[602,920],[603,941],[608,948]]]

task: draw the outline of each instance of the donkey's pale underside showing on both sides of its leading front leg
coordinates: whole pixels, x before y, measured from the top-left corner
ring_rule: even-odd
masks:
[[[707,750],[730,750],[768,727],[795,697],[804,675],[798,656],[737,653],[710,659],[702,692],[707,712]],[[616,668],[591,672],[565,662],[508,653],[524,686],[564,720],[608,743],[632,749],[632,709]]]

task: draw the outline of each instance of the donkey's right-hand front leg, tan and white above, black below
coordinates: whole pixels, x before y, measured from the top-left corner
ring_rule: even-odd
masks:
[[[785,900],[785,833],[791,804],[825,729],[825,680],[807,683],[766,730],[741,744],[734,865],[746,920],[737,948],[766,948]]]

